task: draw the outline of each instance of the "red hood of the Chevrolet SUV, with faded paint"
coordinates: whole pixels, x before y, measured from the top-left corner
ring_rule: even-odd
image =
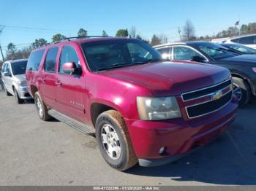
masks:
[[[180,95],[222,82],[230,71],[201,63],[160,62],[102,72],[102,75],[131,82],[155,95]]]

